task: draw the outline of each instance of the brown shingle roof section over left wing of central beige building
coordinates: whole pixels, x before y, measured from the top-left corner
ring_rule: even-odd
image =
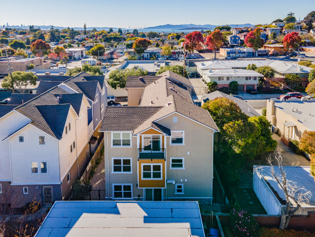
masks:
[[[157,106],[107,106],[99,131],[134,131],[161,108]]]

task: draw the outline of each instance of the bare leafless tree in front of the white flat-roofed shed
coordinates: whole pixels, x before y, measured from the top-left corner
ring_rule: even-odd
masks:
[[[270,165],[270,169],[264,169],[264,171],[268,172],[278,183],[281,189],[284,191],[285,194],[285,208],[281,213],[281,222],[279,229],[286,229],[288,227],[289,221],[291,216],[296,213],[299,208],[301,207],[302,203],[308,203],[311,199],[311,191],[306,190],[303,187],[298,187],[293,182],[286,179],[285,169],[282,163],[282,156],[278,152],[275,155],[276,162],[278,162],[278,170],[275,170],[275,167],[272,164],[271,155],[267,158],[268,164]],[[256,168],[263,169],[262,167]],[[291,202],[294,203],[291,205]]]

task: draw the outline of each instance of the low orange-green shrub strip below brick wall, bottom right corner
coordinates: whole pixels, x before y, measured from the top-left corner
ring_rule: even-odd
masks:
[[[307,231],[261,228],[260,237],[315,237],[315,234]]]

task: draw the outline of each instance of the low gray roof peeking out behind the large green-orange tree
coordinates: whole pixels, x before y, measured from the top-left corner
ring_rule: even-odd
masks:
[[[249,105],[246,101],[238,99],[234,96],[227,95],[218,90],[203,96],[202,99],[204,100],[204,102],[207,102],[207,101],[214,100],[215,98],[218,98],[218,97],[225,97],[234,101],[238,105],[238,107],[240,107],[242,112],[248,115],[249,117],[260,116],[260,114],[258,114],[258,112],[254,110],[254,108],[251,105]]]

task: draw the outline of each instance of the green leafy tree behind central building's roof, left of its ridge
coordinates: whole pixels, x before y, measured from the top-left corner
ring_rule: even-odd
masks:
[[[117,89],[117,86],[125,88],[127,76],[145,76],[147,73],[147,70],[142,70],[141,68],[115,69],[110,72],[108,84],[114,89]]]

